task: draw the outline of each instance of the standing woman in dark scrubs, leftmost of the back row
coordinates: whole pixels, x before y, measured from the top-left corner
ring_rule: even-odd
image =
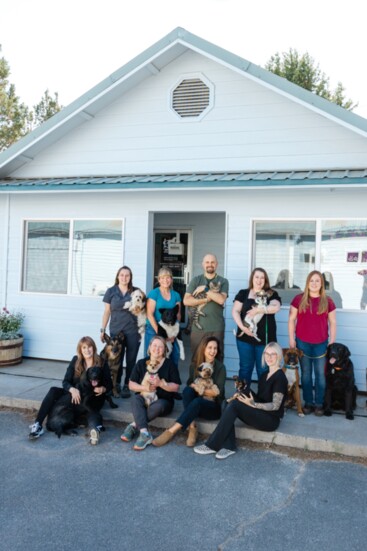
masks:
[[[104,334],[110,322],[111,337],[115,337],[122,331],[125,339],[122,344],[121,364],[117,374],[117,384],[121,385],[122,365],[126,354],[126,374],[124,386],[121,390],[121,398],[130,398],[129,380],[131,371],[136,363],[139,352],[141,336],[138,331],[137,318],[124,306],[131,300],[131,293],[137,287],[133,286],[133,274],[128,266],[119,268],[115,278],[115,285],[107,289],[103,302],[105,309],[102,317],[101,341],[105,342]]]

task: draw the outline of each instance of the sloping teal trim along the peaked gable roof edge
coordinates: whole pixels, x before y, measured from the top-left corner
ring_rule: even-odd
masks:
[[[26,156],[27,149],[42,139],[46,139],[46,144],[44,147],[47,147],[47,136],[52,134],[54,130],[59,128],[65,122],[75,117],[80,111],[83,110],[84,106],[90,102],[93,103],[97,101],[97,98],[100,97],[101,94],[108,92],[112,85],[118,83],[129,74],[133,74],[136,69],[139,67],[144,67],[144,65],[148,64],[149,60],[154,60],[154,58],[157,58],[160,54],[163,54],[167,48],[178,43],[181,43],[187,48],[195,49],[203,55],[213,57],[217,59],[218,62],[226,63],[227,65],[232,66],[243,73],[251,75],[259,81],[263,81],[266,85],[273,87],[275,90],[278,89],[283,93],[288,94],[290,97],[293,96],[298,101],[301,101],[306,105],[308,104],[321,112],[334,117],[336,120],[342,121],[352,128],[354,127],[367,133],[367,119],[364,119],[351,111],[347,111],[346,109],[343,109],[342,107],[339,107],[338,105],[329,102],[328,100],[321,98],[320,96],[317,96],[316,94],[313,94],[312,92],[309,92],[308,90],[305,90],[304,88],[297,86],[284,78],[274,75],[270,71],[254,65],[248,60],[216,46],[215,44],[212,44],[211,42],[208,42],[181,27],[177,27],[161,40],[123,65],[120,69],[102,80],[99,84],[88,90],[78,99],[70,103],[67,107],[64,107],[51,119],[33,130],[33,132],[19,140],[7,150],[0,153],[0,167],[4,167],[18,155],[20,156],[24,154]]]

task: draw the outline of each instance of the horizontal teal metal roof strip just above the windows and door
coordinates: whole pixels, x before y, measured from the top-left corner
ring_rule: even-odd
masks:
[[[325,170],[310,172],[159,174],[108,178],[49,178],[0,180],[0,192],[37,191],[138,191],[185,189],[254,189],[300,187],[366,186],[365,170]]]

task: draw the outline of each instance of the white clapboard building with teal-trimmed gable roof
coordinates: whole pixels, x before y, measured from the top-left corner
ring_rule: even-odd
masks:
[[[234,374],[251,269],[282,295],[286,346],[316,268],[363,391],[366,207],[367,120],[177,28],[0,155],[0,306],[26,314],[25,356],[67,360],[120,266],[149,291],[168,264],[184,292],[213,252]]]

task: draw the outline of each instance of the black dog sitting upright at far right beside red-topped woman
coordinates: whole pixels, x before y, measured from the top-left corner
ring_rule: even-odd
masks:
[[[344,344],[335,342],[327,348],[324,415],[328,417],[332,415],[332,409],[342,409],[347,419],[354,419],[357,387],[354,382],[353,363],[349,357],[349,348]]]

